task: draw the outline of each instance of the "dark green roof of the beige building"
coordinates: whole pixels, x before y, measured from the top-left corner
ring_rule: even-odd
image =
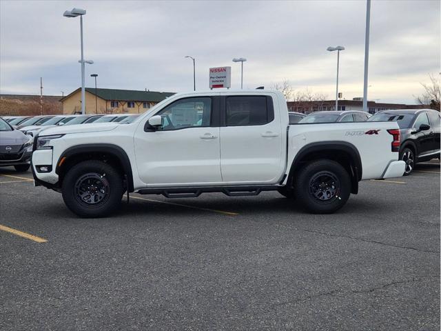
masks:
[[[77,88],[70,94],[63,97],[60,101],[64,101],[75,92],[81,90]],[[95,88],[85,88],[85,90],[95,95]],[[137,91],[137,90],[116,90],[114,88],[97,88],[96,96],[104,100],[112,101],[151,101],[159,102],[170,97],[174,92],[156,92],[156,91]]]

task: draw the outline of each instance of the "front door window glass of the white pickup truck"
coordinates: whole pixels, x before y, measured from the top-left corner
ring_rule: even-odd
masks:
[[[170,131],[185,128],[210,126],[212,98],[187,98],[165,107],[158,115],[163,118],[160,130]]]

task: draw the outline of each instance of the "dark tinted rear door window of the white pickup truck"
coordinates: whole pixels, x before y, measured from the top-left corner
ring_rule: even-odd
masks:
[[[227,126],[263,126],[274,120],[272,101],[264,96],[227,97]]]

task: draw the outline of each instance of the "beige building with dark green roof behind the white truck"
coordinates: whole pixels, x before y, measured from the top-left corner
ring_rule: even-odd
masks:
[[[174,93],[115,90],[111,88],[85,88],[86,114],[138,114],[163,101]],[[81,113],[81,88],[66,95],[60,100],[63,103],[63,114]]]

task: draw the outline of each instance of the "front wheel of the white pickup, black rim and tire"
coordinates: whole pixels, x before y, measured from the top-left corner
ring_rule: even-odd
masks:
[[[64,203],[80,217],[105,217],[118,208],[123,196],[123,179],[111,165],[83,161],[63,179]]]

